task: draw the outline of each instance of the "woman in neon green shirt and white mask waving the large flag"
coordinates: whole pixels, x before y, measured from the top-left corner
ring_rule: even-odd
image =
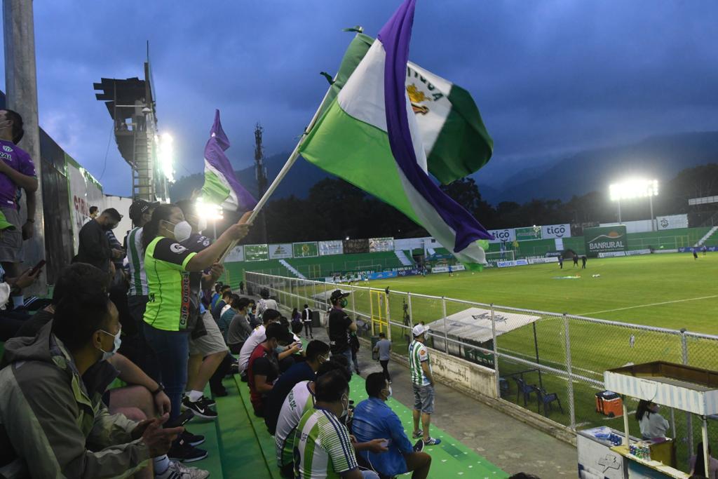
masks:
[[[159,205],[144,225],[144,269],[149,287],[144,334],[159,360],[164,390],[172,403],[172,419],[180,415],[190,354],[188,334],[199,317],[190,311],[190,273],[210,268],[230,243],[244,238],[249,230],[248,215],[200,253],[180,244],[190,237],[192,226],[176,205]]]

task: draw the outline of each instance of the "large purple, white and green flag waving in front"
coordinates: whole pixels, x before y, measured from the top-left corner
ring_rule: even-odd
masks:
[[[421,131],[406,91],[414,4],[406,0],[381,29],[300,152],[400,210],[462,263],[484,264],[477,240],[492,236],[427,173]]]

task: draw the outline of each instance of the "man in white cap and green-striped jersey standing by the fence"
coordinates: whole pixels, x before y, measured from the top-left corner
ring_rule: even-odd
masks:
[[[414,341],[409,345],[409,369],[411,370],[411,387],[414,389],[414,439],[424,441],[425,446],[438,445],[442,440],[429,436],[429,424],[434,412],[434,376],[432,361],[429,359],[429,348],[426,348],[426,334],[429,327],[416,325],[411,330]],[[419,418],[421,427],[419,430]]]

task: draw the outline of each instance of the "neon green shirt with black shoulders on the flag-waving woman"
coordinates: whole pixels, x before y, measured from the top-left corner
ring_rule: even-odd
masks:
[[[144,322],[158,330],[185,331],[190,319],[190,274],[187,264],[196,253],[177,241],[158,236],[144,253],[149,302]]]

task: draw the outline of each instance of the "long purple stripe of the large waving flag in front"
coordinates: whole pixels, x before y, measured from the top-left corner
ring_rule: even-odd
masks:
[[[478,239],[493,239],[467,210],[444,194],[419,167],[411,141],[409,117],[406,114],[406,62],[414,24],[416,0],[406,0],[377,35],[386,52],[384,65],[384,103],[386,127],[391,152],[416,191],[437,210],[439,216],[456,232],[454,253]]]

